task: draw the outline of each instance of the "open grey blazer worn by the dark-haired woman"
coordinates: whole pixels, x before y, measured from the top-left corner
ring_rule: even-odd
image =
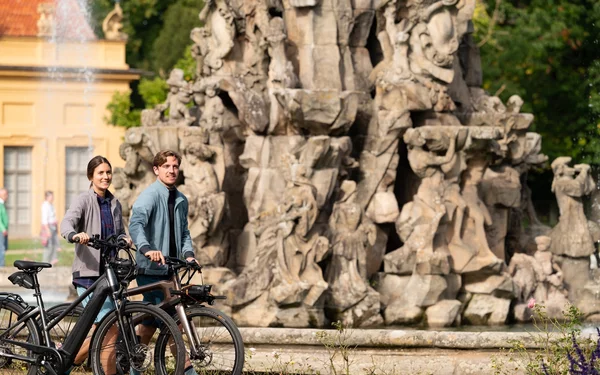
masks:
[[[110,206],[113,215],[115,234],[125,235],[123,227],[123,214],[121,203],[110,191],[106,192],[111,198]],[[65,217],[60,223],[60,234],[65,239],[69,235],[86,232],[88,235],[100,234],[100,205],[94,189],[81,193],[67,210]],[[73,278],[100,276],[100,250],[92,247],[76,244],[75,260],[71,267]]]

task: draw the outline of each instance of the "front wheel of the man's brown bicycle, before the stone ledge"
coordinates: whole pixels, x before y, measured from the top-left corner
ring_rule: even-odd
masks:
[[[233,320],[221,311],[206,306],[191,306],[185,310],[185,314],[199,342],[198,353],[193,355],[189,349],[190,338],[184,335],[188,358],[194,370],[199,375],[241,374],[244,342]],[[178,319],[176,321],[179,323]],[[164,350],[165,343],[157,343],[156,346],[157,350]]]

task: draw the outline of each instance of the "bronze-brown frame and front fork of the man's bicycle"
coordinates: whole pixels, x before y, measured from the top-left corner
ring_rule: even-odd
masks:
[[[161,309],[165,309],[166,307],[175,307],[175,311],[177,312],[177,317],[179,318],[179,322],[181,324],[182,331],[186,334],[186,336],[191,340],[193,345],[190,345],[190,352],[192,356],[199,355],[200,352],[198,348],[200,347],[200,337],[198,337],[198,332],[196,331],[196,327],[194,326],[194,322],[189,322],[185,315],[185,307],[181,302],[181,298],[174,296],[171,291],[180,291],[181,290],[181,280],[179,278],[179,274],[176,271],[173,271],[173,276],[171,280],[157,281],[155,283],[151,283],[148,285],[138,286],[135,288],[127,288],[124,291],[124,297],[136,296],[142,293],[150,292],[152,290],[161,290],[165,296],[163,302],[158,304],[157,306]]]

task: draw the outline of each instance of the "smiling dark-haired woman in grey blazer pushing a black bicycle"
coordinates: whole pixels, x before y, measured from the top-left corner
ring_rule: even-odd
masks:
[[[131,239],[126,236],[123,227],[121,203],[108,191],[112,181],[112,166],[102,156],[95,156],[87,165],[87,178],[90,189],[80,194],[72,203],[60,224],[61,235],[70,242],[79,241],[75,245],[75,260],[73,261],[73,285],[77,294],[81,295],[104,272],[100,260],[100,251],[86,246],[90,236],[99,234],[105,239],[118,235],[131,245]],[[83,301],[85,306],[88,297]],[[114,309],[110,299],[106,299],[96,317],[95,323]],[[75,363],[81,363],[87,356],[89,342],[84,344],[75,358]]]

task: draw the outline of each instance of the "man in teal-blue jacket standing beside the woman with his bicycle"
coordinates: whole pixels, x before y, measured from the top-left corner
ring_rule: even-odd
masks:
[[[181,156],[174,151],[165,150],[156,154],[153,162],[156,181],[142,191],[133,204],[129,233],[138,249],[139,286],[170,280],[165,256],[196,261],[188,229],[188,201],[175,186],[180,164]],[[162,291],[144,293],[146,302],[158,304],[163,299]],[[138,334],[142,342],[148,342],[155,330],[153,322],[141,325]],[[196,374],[189,359],[186,360],[185,374]]]

